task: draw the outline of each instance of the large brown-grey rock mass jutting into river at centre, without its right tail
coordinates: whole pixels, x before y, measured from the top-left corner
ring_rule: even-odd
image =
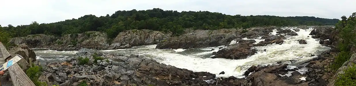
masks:
[[[242,38],[236,29],[193,30],[181,36],[162,40],[156,48],[202,48],[229,45],[236,38]]]

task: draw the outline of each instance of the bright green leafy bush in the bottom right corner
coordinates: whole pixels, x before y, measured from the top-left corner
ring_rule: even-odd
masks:
[[[340,74],[335,80],[335,86],[356,86],[356,66],[353,65]]]

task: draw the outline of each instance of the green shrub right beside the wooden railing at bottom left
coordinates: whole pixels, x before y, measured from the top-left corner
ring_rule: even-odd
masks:
[[[40,78],[40,76],[42,75],[42,70],[43,70],[42,67],[37,66],[33,63],[32,63],[32,67],[26,70],[26,75],[36,86],[47,86],[46,82],[41,82],[38,80],[38,78]]]

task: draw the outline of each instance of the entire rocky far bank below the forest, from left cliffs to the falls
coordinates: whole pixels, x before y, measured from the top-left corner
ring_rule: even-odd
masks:
[[[153,30],[126,30],[116,38],[109,39],[106,33],[88,31],[80,34],[65,34],[61,37],[35,34],[26,37],[16,37],[10,40],[12,44],[26,44],[31,48],[52,48],[52,50],[69,51],[81,48],[98,50],[124,49],[132,46],[158,44],[156,48],[201,48],[229,45],[238,38],[257,38],[267,35],[277,29],[281,34],[297,35],[291,30],[278,27],[254,27],[247,29],[192,30],[186,29],[183,35],[172,36],[172,33],[162,33]],[[296,29],[297,30],[297,29]],[[319,32],[319,31],[317,31]]]

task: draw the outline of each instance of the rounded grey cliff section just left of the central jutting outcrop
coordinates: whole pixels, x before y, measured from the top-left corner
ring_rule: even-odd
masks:
[[[153,30],[126,30],[120,32],[110,45],[112,49],[130,48],[132,46],[153,45],[165,41],[171,34]]]

